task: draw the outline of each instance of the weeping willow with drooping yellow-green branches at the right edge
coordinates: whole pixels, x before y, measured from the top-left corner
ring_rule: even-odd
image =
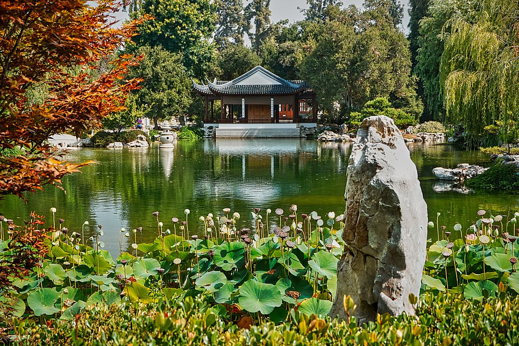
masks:
[[[445,29],[440,86],[446,121],[463,125],[472,148],[491,144],[485,139],[495,137],[496,127],[510,141],[519,128],[519,3],[482,0],[476,21],[456,18]]]

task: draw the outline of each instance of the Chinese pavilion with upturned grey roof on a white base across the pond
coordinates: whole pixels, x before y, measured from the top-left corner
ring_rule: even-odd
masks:
[[[218,128],[216,137],[296,137],[300,123],[317,123],[316,95],[308,84],[285,80],[261,66],[231,81],[193,81],[193,87],[206,102],[204,123]],[[217,100],[219,119],[213,112]]]

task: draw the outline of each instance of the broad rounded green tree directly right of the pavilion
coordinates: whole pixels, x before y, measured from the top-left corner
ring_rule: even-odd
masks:
[[[301,75],[330,119],[344,118],[377,97],[414,118],[421,115],[408,41],[395,26],[392,4],[370,0],[363,11],[354,6],[336,11],[303,59]]]

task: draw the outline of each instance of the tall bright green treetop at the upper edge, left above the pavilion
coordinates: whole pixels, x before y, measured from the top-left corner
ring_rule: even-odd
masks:
[[[139,25],[139,35],[133,41],[137,47],[162,46],[181,53],[187,71],[203,76],[214,55],[210,38],[215,11],[210,0],[142,0],[132,17],[151,15],[154,19]]]

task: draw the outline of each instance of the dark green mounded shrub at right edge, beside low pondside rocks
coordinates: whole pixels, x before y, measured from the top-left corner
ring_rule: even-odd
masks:
[[[465,184],[472,189],[519,189],[519,175],[513,164],[501,164],[502,160],[496,160],[483,174],[469,179]]]

